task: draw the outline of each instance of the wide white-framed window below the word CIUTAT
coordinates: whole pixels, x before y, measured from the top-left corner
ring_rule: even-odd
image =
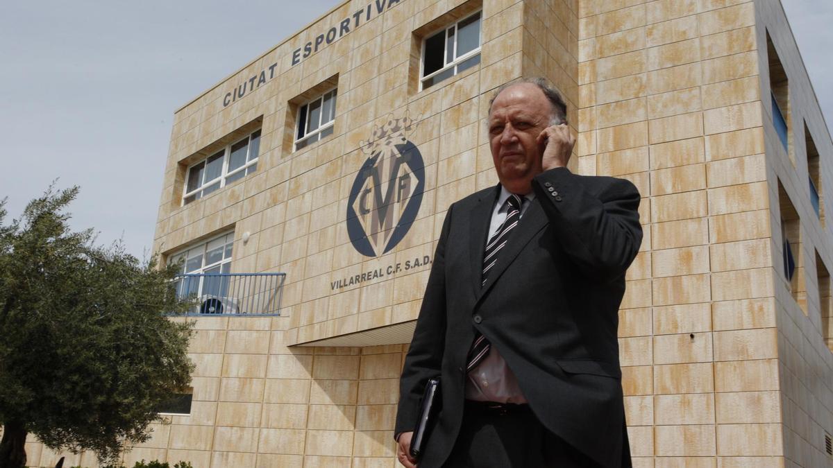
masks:
[[[221,187],[257,170],[261,131],[233,142],[222,150],[188,167],[182,204],[199,200]]]

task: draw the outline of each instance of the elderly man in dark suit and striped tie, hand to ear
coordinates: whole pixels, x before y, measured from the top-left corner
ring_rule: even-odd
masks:
[[[419,463],[630,466],[616,341],[640,196],[567,168],[566,106],[540,78],[496,92],[500,184],[448,208],[402,370],[396,435],[409,454],[426,381],[441,411]]]

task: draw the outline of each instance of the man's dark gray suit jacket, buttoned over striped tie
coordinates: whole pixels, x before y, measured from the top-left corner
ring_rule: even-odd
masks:
[[[539,174],[536,198],[481,283],[500,187],[446,212],[400,381],[396,433],[412,431],[426,381],[441,375],[442,410],[420,468],[441,466],[462,421],[475,329],[515,373],[538,419],[602,466],[629,466],[618,309],[642,239],[636,187],[566,168]]]

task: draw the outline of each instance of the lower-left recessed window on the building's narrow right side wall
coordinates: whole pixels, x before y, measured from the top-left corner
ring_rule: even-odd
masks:
[[[778,203],[781,207],[781,260],[784,277],[793,299],[801,307],[804,315],[807,315],[807,290],[801,254],[801,218],[781,181],[778,181]]]

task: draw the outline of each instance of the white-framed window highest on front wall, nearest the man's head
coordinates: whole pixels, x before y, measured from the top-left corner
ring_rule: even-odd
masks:
[[[426,37],[422,42],[421,89],[480,63],[481,12]]]

